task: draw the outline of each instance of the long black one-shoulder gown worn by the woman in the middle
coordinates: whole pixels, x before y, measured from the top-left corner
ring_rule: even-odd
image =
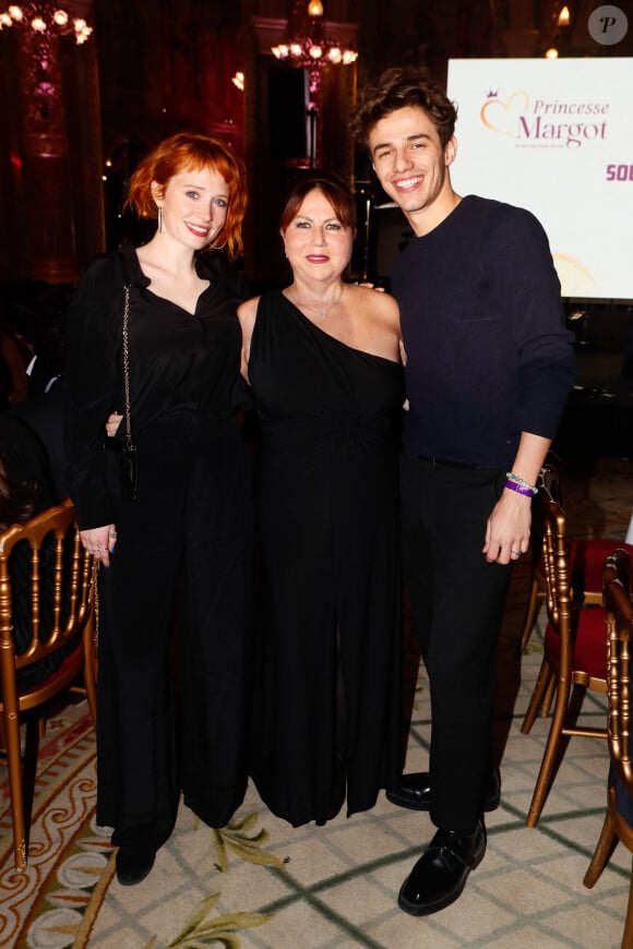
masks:
[[[326,323],[323,323],[326,327]],[[261,421],[252,773],[295,826],[373,806],[399,770],[403,369],[274,291],[249,377]]]

